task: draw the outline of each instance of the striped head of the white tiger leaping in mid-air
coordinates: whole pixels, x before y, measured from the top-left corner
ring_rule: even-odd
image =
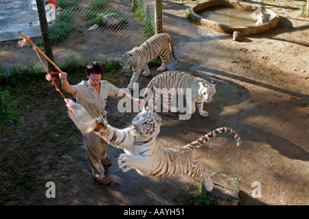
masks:
[[[148,110],[148,107],[144,107],[143,110],[133,118],[131,127],[135,136],[148,135],[151,137],[157,136],[160,132],[161,123],[161,116]]]

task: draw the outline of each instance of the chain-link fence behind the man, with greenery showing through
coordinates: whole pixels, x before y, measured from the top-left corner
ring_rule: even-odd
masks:
[[[107,51],[122,55],[161,31],[156,3],[162,1],[0,0],[0,41],[21,40],[21,31],[46,53],[51,47],[91,60]]]

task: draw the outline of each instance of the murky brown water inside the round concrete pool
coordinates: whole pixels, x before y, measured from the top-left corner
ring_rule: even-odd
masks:
[[[223,6],[205,8],[196,14],[230,26],[253,26],[256,23],[252,19],[253,12]]]

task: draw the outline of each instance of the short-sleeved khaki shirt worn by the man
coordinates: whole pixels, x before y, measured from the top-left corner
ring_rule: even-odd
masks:
[[[89,80],[75,85],[76,103],[80,103],[93,118],[106,116],[105,106],[107,96],[116,96],[118,92],[118,88],[108,81],[100,81],[100,86],[100,94],[98,94],[89,83]]]

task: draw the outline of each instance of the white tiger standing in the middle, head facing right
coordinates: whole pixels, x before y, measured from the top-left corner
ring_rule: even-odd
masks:
[[[157,110],[155,103],[163,94],[163,107],[170,110],[170,112],[179,112],[179,108],[172,104],[172,98],[176,94],[185,96],[186,113],[194,114],[196,106],[201,116],[209,116],[208,112],[203,110],[204,102],[209,103],[212,96],[216,93],[216,83],[210,83],[200,77],[194,77],[188,73],[180,71],[167,71],[152,78],[144,92],[143,99],[145,99],[150,90],[152,90],[152,97],[148,97],[148,107],[150,110]]]

